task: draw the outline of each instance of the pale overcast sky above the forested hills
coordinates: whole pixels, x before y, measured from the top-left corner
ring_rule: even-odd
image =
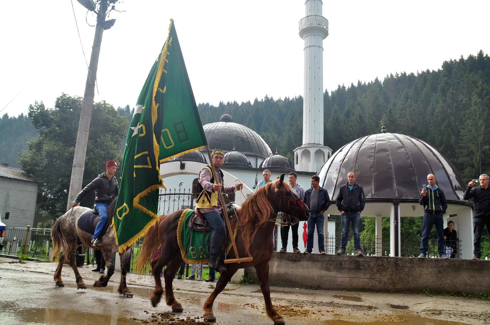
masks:
[[[74,15],[72,9],[74,7]],[[197,103],[303,93],[304,0],[124,0],[108,19],[95,101],[134,106],[173,18]],[[323,1],[323,88],[390,73],[437,70],[489,49],[490,1]],[[2,1],[0,116],[83,96],[95,16],[76,0]],[[87,18],[86,18],[87,17]]]

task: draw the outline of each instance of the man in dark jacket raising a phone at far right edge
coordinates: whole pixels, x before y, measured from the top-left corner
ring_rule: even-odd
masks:
[[[475,186],[473,181],[468,183],[464,200],[473,198],[473,257],[471,259],[480,259],[481,239],[483,227],[487,225],[487,232],[490,235],[490,188],[489,175],[480,175],[480,186]]]

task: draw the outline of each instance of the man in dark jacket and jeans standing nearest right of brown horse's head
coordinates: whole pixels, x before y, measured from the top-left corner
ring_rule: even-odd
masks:
[[[311,177],[311,188],[305,192],[304,203],[310,208],[311,214],[308,219],[308,239],[306,241],[305,253],[313,252],[313,238],[315,236],[315,226],[318,235],[318,250],[320,254],[325,253],[325,243],[323,242],[323,224],[325,222],[324,213],[330,207],[330,197],[323,187],[320,187],[320,178],[318,175]]]

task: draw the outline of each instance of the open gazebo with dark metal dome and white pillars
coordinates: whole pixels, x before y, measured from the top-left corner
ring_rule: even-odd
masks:
[[[362,137],[345,144],[323,165],[320,186],[337,198],[339,187],[347,183],[347,173],[356,173],[356,183],[366,195],[364,216],[376,217],[376,255],[381,255],[381,218],[390,216],[390,255],[400,256],[400,216],[421,216],[420,191],[427,185],[427,175],[434,173],[437,185],[447,199],[444,218],[453,215],[460,238],[461,256],[472,255],[472,204],[463,200],[466,188],[454,165],[429,143],[411,136],[382,133]],[[337,214],[333,204],[329,213]],[[454,216],[457,214],[457,216]],[[447,220],[445,220],[447,221]],[[445,224],[446,222],[444,222]]]

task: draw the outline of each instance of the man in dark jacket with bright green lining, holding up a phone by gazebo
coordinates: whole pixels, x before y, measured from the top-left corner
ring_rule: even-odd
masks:
[[[439,186],[436,185],[437,178],[434,174],[427,175],[428,186],[422,188],[418,203],[424,207],[424,218],[422,221],[422,238],[420,239],[420,255],[427,256],[429,248],[429,234],[432,226],[436,225],[437,250],[440,258],[448,258],[444,250],[444,221],[442,215],[446,213],[446,196]]]

